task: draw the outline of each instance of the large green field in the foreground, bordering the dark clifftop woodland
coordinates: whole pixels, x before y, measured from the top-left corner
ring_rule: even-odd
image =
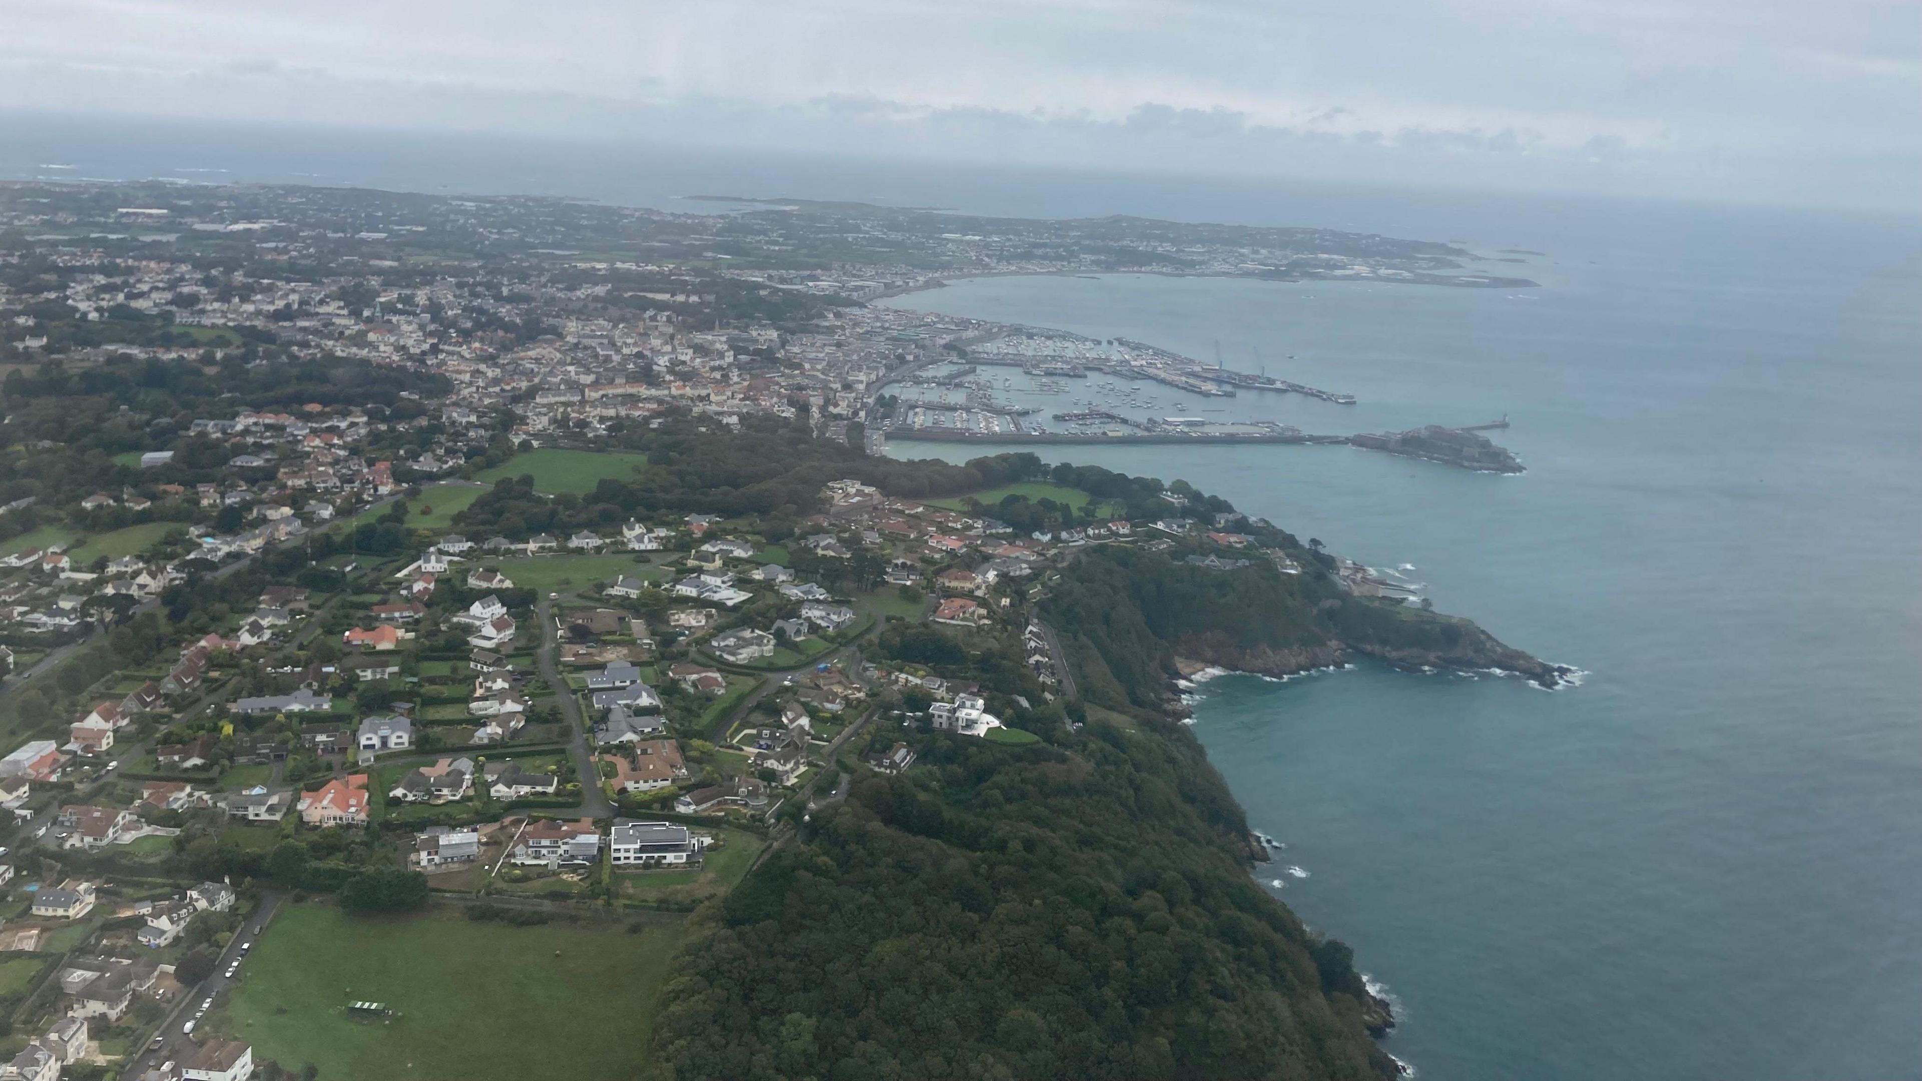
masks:
[[[627,1079],[648,1066],[655,987],[678,944],[677,923],[628,935],[296,904],[261,935],[233,1004],[209,1021],[250,1041],[256,1058],[311,1062],[329,1081]],[[396,1014],[356,1021],[344,1012],[356,1000]]]

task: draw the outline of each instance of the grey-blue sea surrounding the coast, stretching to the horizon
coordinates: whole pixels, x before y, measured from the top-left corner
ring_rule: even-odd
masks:
[[[1922,1077],[1914,217],[17,115],[0,177],[1138,214],[1486,256],[1540,289],[994,277],[888,304],[1357,396],[1147,385],[1146,415],[1320,433],[1507,415],[1491,435],[1515,477],[1349,446],[1034,448],[1184,477],[1584,671],[1553,692],[1374,664],[1194,689],[1195,737],[1280,842],[1259,881],[1355,948],[1417,1077]],[[998,390],[1044,410],[1126,396]]]

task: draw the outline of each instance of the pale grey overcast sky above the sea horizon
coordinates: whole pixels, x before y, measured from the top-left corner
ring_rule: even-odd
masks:
[[[1922,0],[0,0],[17,112],[1922,214]]]

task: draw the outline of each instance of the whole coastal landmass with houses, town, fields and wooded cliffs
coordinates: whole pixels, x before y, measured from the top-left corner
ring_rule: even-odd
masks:
[[[1186,481],[873,454],[905,387],[978,390],[940,365],[1345,398],[869,306],[1021,262],[899,214],[0,185],[6,931],[54,958],[13,1025],[83,1012],[119,1071],[469,1031],[457,1075],[1393,1077],[1178,681],[1572,673]],[[1021,229],[1036,265],[1463,258]],[[365,943],[434,979],[354,993]],[[561,993],[477,1031],[500,966]]]

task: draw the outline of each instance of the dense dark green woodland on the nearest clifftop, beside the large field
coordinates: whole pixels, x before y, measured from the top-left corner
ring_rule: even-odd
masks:
[[[696,1079],[1393,1077],[1345,950],[1249,879],[1178,725],[923,741],[719,910],[655,1021]]]

